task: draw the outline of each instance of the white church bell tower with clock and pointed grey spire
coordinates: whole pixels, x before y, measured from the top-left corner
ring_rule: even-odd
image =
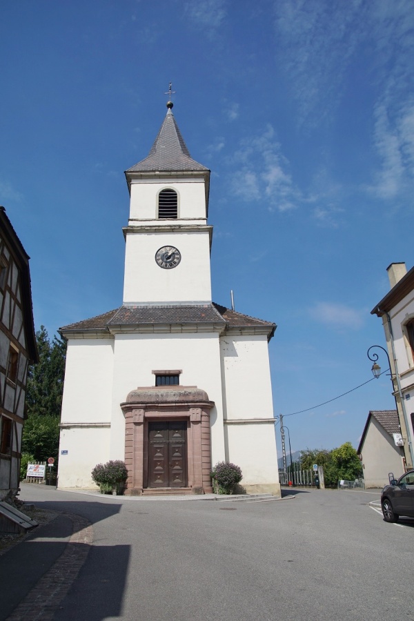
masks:
[[[190,156],[172,106],[148,157],[125,172],[124,306],[211,302],[210,170]]]

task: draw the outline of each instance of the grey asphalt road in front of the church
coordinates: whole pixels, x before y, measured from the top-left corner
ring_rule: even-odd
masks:
[[[386,524],[377,493],[224,503],[24,486],[21,498],[93,524],[60,621],[414,620],[414,520]]]

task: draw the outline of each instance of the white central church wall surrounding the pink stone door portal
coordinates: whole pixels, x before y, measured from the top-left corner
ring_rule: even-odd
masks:
[[[152,371],[179,370],[181,386],[197,386],[215,402],[210,411],[212,459],[224,460],[219,355],[216,333],[116,335],[110,459],[124,459],[125,420],[120,404],[128,393],[138,386],[154,386]]]

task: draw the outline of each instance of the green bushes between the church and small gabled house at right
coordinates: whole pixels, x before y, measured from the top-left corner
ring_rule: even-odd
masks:
[[[302,451],[301,468],[311,469],[313,464],[323,466],[326,487],[336,487],[339,480],[353,481],[362,477],[361,462],[351,442],[345,442],[338,449]]]

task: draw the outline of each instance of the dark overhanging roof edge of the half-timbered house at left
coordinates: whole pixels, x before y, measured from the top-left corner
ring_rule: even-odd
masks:
[[[36,334],[33,322],[32,287],[30,284],[29,255],[23,248],[12,223],[6,215],[6,209],[0,206],[0,228],[6,246],[10,250],[14,262],[19,268],[21,277],[21,304],[23,307],[23,324],[26,334],[26,346],[30,362],[38,362]]]

